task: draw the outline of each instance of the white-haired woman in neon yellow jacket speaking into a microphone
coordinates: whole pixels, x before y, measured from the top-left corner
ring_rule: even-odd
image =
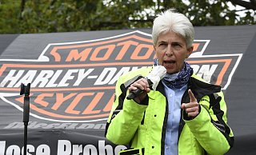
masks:
[[[191,22],[175,10],[166,10],[154,19],[152,39],[154,66],[164,66],[166,75],[156,90],[142,78],[150,69],[134,70],[118,79],[106,138],[134,148],[120,154],[226,153],[234,136],[226,125],[221,87],[203,81],[185,62],[193,51]],[[135,89],[143,92],[127,100],[127,93]]]

